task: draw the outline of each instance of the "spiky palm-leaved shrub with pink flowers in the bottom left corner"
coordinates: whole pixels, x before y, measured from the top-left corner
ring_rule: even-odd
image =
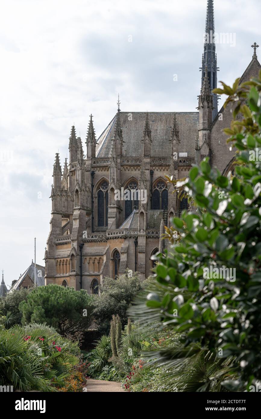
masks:
[[[21,391],[56,391],[79,363],[76,342],[46,325],[16,325],[0,331],[0,385]]]

